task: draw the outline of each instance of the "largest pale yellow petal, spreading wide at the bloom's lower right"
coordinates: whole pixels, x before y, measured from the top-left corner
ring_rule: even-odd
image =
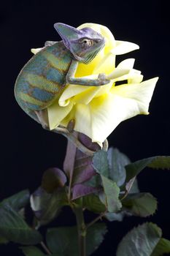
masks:
[[[155,83],[152,78],[141,84],[116,86],[110,94],[90,102],[91,138],[103,142],[121,121],[138,114],[148,114],[148,108]]]

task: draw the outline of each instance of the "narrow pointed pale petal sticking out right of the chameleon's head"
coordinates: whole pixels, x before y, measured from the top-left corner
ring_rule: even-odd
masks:
[[[139,45],[134,44],[134,42],[126,42],[126,41],[117,41],[116,46],[112,49],[112,53],[115,55],[120,55],[124,53],[129,53],[132,50],[139,49]]]

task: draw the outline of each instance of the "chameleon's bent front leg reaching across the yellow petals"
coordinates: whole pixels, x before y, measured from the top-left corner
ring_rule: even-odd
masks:
[[[66,83],[69,84],[78,84],[81,86],[104,86],[109,83],[110,80],[106,78],[105,74],[99,74],[97,79],[90,78],[74,78],[78,61],[73,60],[72,64],[69,67],[69,71],[66,75]]]

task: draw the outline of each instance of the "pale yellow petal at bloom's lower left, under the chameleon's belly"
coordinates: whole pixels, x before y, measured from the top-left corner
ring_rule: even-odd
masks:
[[[65,118],[72,110],[72,107],[72,101],[69,102],[69,105],[67,105],[66,107],[59,106],[58,100],[53,102],[53,104],[47,108],[50,129],[55,129],[56,127],[58,127],[63,118]]]

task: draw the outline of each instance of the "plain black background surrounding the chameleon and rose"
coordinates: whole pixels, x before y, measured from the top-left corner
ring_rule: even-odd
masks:
[[[101,23],[115,39],[139,44],[140,49],[117,57],[135,58],[144,80],[159,76],[149,116],[124,121],[109,136],[109,145],[128,154],[132,161],[169,155],[169,7],[168,1],[6,1],[0,7],[1,43],[1,170],[0,199],[22,189],[33,192],[48,167],[62,168],[66,139],[47,132],[15,102],[13,87],[20,69],[31,58],[31,48],[46,40],[59,40],[53,24],[71,26]],[[94,255],[115,255],[117,243],[134,225],[157,223],[170,239],[169,170],[145,169],[139,175],[142,192],[158,198],[158,211],[150,218],[125,218],[108,223],[109,233]],[[88,215],[87,220],[93,218]],[[52,225],[74,224],[66,209]],[[52,226],[51,225],[51,226]],[[43,229],[42,229],[43,232]],[[0,246],[0,255],[22,255],[18,246]]]

